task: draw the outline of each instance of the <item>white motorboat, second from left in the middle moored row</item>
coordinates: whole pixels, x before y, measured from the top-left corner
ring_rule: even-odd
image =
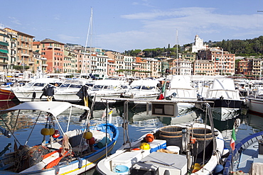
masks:
[[[87,86],[87,89],[92,88],[94,81],[89,79],[67,79],[56,89],[54,98],[55,101],[80,102],[82,99],[77,96],[82,86]]]

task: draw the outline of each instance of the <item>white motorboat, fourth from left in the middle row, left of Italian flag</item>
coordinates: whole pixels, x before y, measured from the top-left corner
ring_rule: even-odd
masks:
[[[131,88],[124,94],[125,98],[156,99],[161,91],[157,87],[159,81],[151,79],[139,79],[132,81]],[[139,103],[139,101],[136,101]]]

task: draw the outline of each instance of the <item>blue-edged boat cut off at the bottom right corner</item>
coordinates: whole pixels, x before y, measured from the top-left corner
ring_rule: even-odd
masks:
[[[227,157],[224,175],[262,174],[263,131],[245,137]]]

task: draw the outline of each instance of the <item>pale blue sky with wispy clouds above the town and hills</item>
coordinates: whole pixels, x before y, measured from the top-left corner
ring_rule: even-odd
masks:
[[[0,9],[0,27],[35,40],[117,52],[263,35],[262,0],[0,0]]]

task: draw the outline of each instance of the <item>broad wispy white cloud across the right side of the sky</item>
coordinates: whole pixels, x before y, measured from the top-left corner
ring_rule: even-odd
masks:
[[[166,47],[176,44],[178,30],[179,44],[193,43],[195,35],[204,40],[251,38],[256,28],[263,28],[263,15],[226,15],[215,13],[214,8],[190,7],[150,13],[133,13],[122,16],[136,20],[136,28],[123,33],[108,33],[100,36],[104,45],[119,51]],[[253,38],[253,37],[252,37]]]

